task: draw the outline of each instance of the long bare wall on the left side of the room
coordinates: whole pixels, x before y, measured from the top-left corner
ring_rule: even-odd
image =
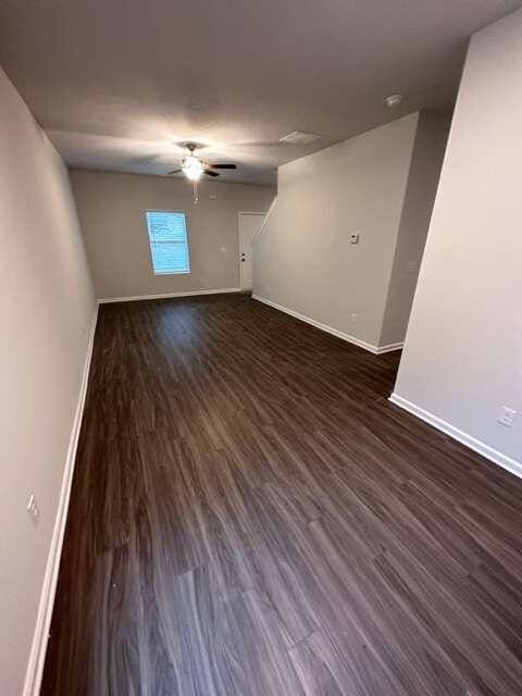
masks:
[[[21,694],[95,300],[66,169],[0,70],[0,691]],[[26,511],[34,490],[37,526]]]

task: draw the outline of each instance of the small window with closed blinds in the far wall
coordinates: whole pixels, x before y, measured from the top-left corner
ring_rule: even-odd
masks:
[[[185,213],[148,210],[147,226],[154,275],[190,273]]]

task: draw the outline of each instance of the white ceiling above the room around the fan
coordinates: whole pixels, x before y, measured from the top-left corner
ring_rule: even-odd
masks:
[[[2,0],[0,64],[73,166],[165,174],[173,142],[275,167],[451,109],[471,34],[520,0]],[[406,95],[396,110],[383,100]],[[322,136],[284,145],[290,130]]]

